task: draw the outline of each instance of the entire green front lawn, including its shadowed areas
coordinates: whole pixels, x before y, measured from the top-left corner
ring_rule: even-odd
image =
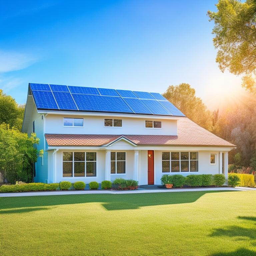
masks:
[[[256,191],[0,197],[0,255],[255,256]]]

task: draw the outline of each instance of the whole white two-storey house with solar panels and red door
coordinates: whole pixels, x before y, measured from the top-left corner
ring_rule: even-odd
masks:
[[[134,179],[228,173],[233,144],[196,125],[159,93],[32,84],[22,132],[44,154],[35,182]]]

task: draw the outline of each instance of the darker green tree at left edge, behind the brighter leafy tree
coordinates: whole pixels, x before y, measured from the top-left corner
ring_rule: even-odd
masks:
[[[6,123],[21,130],[24,111],[25,104],[18,105],[15,99],[0,89],[0,124]]]

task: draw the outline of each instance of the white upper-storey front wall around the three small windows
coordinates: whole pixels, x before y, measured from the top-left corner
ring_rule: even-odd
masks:
[[[84,118],[84,127],[64,127],[63,118]],[[105,127],[104,119],[122,119],[123,127]],[[162,128],[145,128],[145,120],[161,121]],[[81,116],[48,114],[45,133],[49,134],[130,134],[130,135],[177,135],[177,120],[131,118],[124,116]]]

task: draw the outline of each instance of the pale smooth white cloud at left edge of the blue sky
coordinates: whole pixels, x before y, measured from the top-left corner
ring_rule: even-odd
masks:
[[[24,69],[37,59],[29,54],[0,51],[0,73]]]

